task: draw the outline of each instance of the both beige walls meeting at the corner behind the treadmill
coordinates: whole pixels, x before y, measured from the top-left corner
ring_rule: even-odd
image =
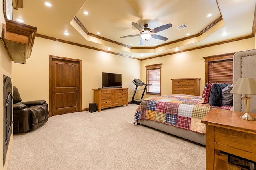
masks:
[[[26,64],[13,66],[13,85],[17,86],[22,100],[46,100],[49,103],[49,55],[82,60],[82,108],[93,102],[93,88],[101,87],[101,72],[122,74],[122,86],[128,87],[128,101],[135,85],[133,78],[146,82],[146,65],[162,63],[162,95],[171,94],[172,78],[201,78],[200,95],[205,84],[204,58],[236,51],[254,49],[254,38],[216,45],[139,61],[92,49],[68,45],[36,37],[31,57]],[[140,98],[142,91],[136,93]],[[144,96],[144,98],[147,95]]]

